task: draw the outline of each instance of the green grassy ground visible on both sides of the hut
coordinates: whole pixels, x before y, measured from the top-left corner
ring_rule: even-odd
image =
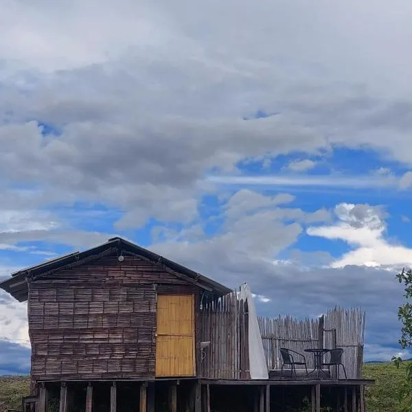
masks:
[[[363,376],[375,379],[376,384],[367,388],[367,412],[397,412],[402,404],[398,401],[399,390],[404,382],[405,365],[400,369],[391,363],[367,363]],[[23,376],[0,376],[0,412],[8,409],[21,410],[21,398],[30,391],[30,380]]]

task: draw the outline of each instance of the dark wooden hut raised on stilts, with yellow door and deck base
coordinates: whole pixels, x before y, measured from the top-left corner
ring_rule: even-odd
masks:
[[[230,398],[230,387],[249,385],[240,410],[269,412],[274,385],[299,385],[313,389],[312,411],[319,411],[321,380],[270,378],[277,354],[268,339],[279,336],[262,320],[262,337],[259,327],[253,333],[268,378],[251,376],[253,302],[122,238],[26,268],[0,287],[27,301],[32,393],[24,410],[210,412]],[[279,339],[287,345],[288,336]],[[338,376],[324,385],[340,387],[341,398],[345,389],[342,404],[355,399],[363,412],[366,383]],[[351,408],[342,411],[358,412]]]

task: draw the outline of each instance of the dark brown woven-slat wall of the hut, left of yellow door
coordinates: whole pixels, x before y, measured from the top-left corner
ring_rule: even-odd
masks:
[[[128,256],[30,282],[32,378],[154,378],[157,284],[187,287],[159,266]]]

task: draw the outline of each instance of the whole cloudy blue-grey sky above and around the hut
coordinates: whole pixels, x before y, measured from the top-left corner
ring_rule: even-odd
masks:
[[[0,277],[123,236],[400,351],[412,3],[0,0]],[[27,371],[0,293],[0,374]],[[407,355],[407,354],[404,354]]]

